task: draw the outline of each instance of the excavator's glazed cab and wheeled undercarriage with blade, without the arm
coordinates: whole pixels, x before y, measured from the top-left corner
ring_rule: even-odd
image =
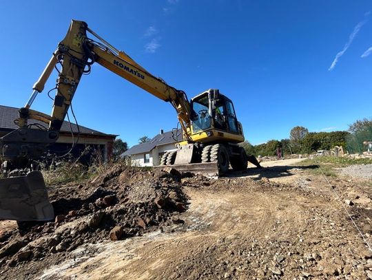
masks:
[[[238,145],[244,141],[234,105],[218,89],[209,89],[190,100],[191,141],[177,144],[177,151],[163,155],[161,165],[216,177],[229,170],[247,169],[247,162],[260,167],[253,155]]]

